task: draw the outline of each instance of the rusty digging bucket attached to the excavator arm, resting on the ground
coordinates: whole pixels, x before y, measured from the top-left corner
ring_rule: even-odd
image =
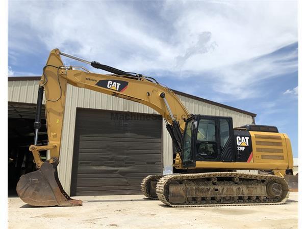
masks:
[[[81,200],[70,198],[64,191],[57,168],[48,162],[37,171],[22,175],[16,190],[22,201],[32,206],[82,206]]]

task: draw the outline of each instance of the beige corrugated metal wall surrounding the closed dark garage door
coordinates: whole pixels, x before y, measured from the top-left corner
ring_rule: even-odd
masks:
[[[38,82],[37,80],[8,81],[8,101],[36,103]],[[179,95],[179,98],[190,113],[230,116],[233,117],[234,127],[252,123],[252,117],[244,113],[181,95]],[[58,167],[60,181],[68,194],[70,190],[75,113],[77,107],[157,114],[155,110],[140,103],[68,85],[60,155],[61,163]],[[163,169],[166,173],[169,173],[172,170],[172,140],[167,132],[164,121],[162,134],[164,151]]]

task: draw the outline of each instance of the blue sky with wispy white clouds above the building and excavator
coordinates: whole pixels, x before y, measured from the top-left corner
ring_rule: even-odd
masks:
[[[297,1],[9,1],[8,74],[41,75],[60,48],[257,113],[297,157],[297,15]]]

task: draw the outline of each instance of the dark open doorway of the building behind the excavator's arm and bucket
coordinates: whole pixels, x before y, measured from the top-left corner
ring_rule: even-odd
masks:
[[[23,174],[35,171],[33,155],[29,151],[34,140],[34,120],[36,104],[8,103],[8,195],[14,196],[16,185]],[[47,145],[47,132],[42,112],[41,128],[38,145]],[[40,151],[41,157],[46,158],[46,151]]]

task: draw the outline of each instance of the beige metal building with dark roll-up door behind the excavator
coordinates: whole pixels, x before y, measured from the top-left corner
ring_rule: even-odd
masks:
[[[32,144],[39,79],[40,76],[8,77],[9,140],[20,139],[23,147]],[[230,116],[234,127],[254,123],[254,113],[174,92],[190,113]],[[41,144],[46,144],[43,130],[39,137]],[[15,160],[15,156],[10,158],[15,151],[9,152],[9,161]],[[25,151],[26,147],[22,155],[28,155]],[[172,140],[155,110],[68,84],[58,166],[60,181],[68,194],[139,193],[143,177],[172,173],[172,156]],[[23,165],[24,161],[19,156],[15,165]]]

